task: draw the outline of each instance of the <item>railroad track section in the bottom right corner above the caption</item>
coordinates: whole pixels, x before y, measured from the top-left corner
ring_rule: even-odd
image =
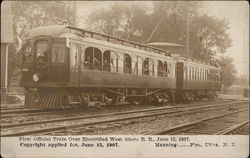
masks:
[[[168,129],[145,133],[145,135],[229,135],[249,134],[249,109],[244,108],[199,121],[180,124]]]

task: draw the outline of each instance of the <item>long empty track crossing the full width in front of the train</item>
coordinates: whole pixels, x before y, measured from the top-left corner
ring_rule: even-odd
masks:
[[[82,128],[82,130],[89,130],[90,127],[104,124],[120,124],[121,121],[131,121],[135,119],[155,117],[155,116],[163,116],[163,115],[177,115],[184,113],[195,113],[203,111],[209,111],[219,108],[239,108],[240,106],[245,106],[246,102],[236,101],[227,104],[215,104],[208,105],[202,107],[175,107],[172,110],[171,108],[154,108],[154,109],[146,109],[146,110],[134,110],[127,112],[119,112],[119,113],[110,113],[105,115],[92,115],[92,116],[82,116],[82,117],[73,117],[73,118],[65,118],[65,119],[55,119],[55,120],[47,120],[47,121],[36,121],[36,122],[26,122],[22,124],[7,124],[1,125],[1,135],[2,136],[23,136],[23,135],[33,135],[33,134],[43,134],[43,133],[53,133],[57,131],[67,131],[69,129],[74,128]],[[239,105],[240,104],[240,105]],[[76,123],[79,122],[79,123]],[[56,124],[57,123],[57,124]],[[36,125],[32,127],[31,125]],[[21,131],[21,129],[26,130]],[[50,126],[51,128],[47,128]],[[8,129],[11,129],[8,131]],[[28,129],[28,130],[27,130]],[[33,130],[32,130],[33,129]]]

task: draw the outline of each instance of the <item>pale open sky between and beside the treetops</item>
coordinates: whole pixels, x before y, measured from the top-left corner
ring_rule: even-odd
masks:
[[[86,16],[97,8],[106,8],[114,1],[77,2],[77,15],[80,27],[86,27]],[[123,2],[124,3],[124,2]],[[130,2],[131,3],[131,2]],[[143,2],[140,2],[143,3]],[[150,5],[150,1],[144,2]],[[226,18],[229,22],[228,33],[232,39],[225,56],[234,59],[238,75],[249,76],[249,4],[247,1],[202,1],[205,11],[218,18]]]

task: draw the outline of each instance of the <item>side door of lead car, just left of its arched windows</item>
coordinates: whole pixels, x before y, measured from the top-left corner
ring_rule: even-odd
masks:
[[[70,48],[70,81],[75,86],[78,86],[80,81],[80,53],[81,46],[72,43]]]

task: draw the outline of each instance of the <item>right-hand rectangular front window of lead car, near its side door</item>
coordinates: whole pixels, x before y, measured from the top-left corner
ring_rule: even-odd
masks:
[[[65,62],[65,47],[63,44],[52,45],[51,62],[52,63],[64,63]]]

